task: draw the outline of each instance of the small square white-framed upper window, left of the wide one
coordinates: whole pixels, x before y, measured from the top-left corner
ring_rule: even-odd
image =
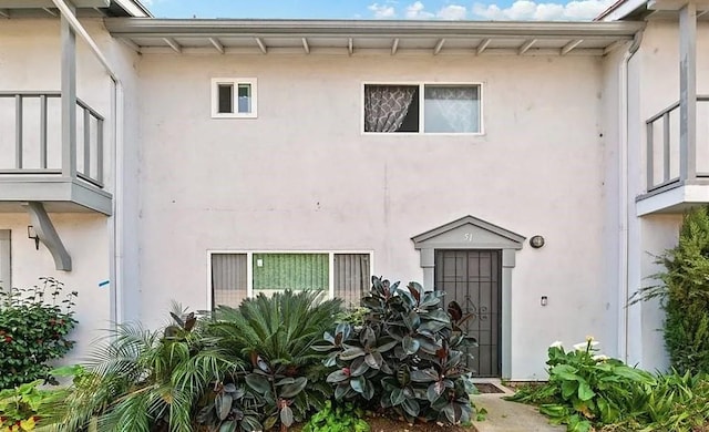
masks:
[[[256,79],[213,79],[212,116],[215,119],[256,117]]]

